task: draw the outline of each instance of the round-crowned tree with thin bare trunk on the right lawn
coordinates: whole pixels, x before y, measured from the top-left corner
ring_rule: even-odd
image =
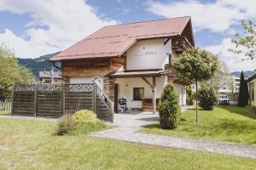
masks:
[[[201,48],[188,48],[172,61],[172,67],[181,77],[195,80],[195,122],[198,122],[197,83],[207,81],[216,74],[219,69],[218,57]]]

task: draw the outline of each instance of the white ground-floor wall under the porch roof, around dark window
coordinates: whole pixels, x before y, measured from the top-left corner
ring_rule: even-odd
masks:
[[[152,78],[147,78],[152,83]],[[162,89],[166,84],[166,77],[156,78],[156,98],[160,98]],[[125,97],[127,99],[127,107],[142,108],[142,101],[133,100],[133,88],[144,88],[144,98],[152,99],[153,94],[151,88],[143,81],[142,78],[118,78],[115,83],[119,84],[119,98]]]

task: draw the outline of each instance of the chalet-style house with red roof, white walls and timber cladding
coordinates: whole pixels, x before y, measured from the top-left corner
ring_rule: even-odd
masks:
[[[189,16],[105,26],[56,54],[62,77],[69,83],[96,79],[119,110],[118,99],[127,99],[128,109],[156,111],[167,82],[173,82],[179,104],[186,105],[185,86],[190,82],[172,70],[172,59],[195,46]]]

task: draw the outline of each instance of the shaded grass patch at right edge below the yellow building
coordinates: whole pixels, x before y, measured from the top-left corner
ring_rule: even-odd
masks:
[[[238,107],[238,106],[220,106],[220,108],[230,111],[231,113],[236,113],[241,116],[247,116],[252,119],[256,119],[256,108],[251,106],[247,107]]]

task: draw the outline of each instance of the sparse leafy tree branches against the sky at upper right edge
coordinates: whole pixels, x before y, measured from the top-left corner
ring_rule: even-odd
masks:
[[[252,20],[241,20],[243,31],[236,33],[231,40],[236,45],[235,49],[230,48],[229,51],[234,54],[244,54],[246,59],[256,58],[256,25]]]

